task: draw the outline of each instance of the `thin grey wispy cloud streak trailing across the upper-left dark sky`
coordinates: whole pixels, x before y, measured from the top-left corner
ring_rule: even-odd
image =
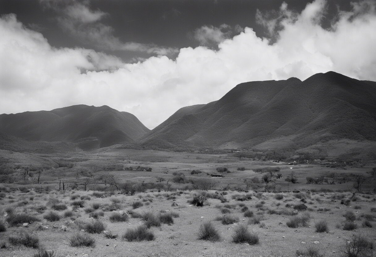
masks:
[[[103,24],[103,18],[108,13],[92,10],[89,2],[76,0],[40,0],[45,8],[55,10],[57,20],[62,29],[81,42],[92,44],[103,50],[138,51],[155,55],[176,54],[178,50],[173,47],[161,47],[155,44],[141,44],[138,42],[122,42],[114,36],[114,29]]]

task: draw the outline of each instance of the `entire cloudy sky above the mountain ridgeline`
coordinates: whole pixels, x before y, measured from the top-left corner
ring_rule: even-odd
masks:
[[[375,0],[1,0],[0,113],[108,105],[153,129],[242,82],[376,81],[375,46]]]

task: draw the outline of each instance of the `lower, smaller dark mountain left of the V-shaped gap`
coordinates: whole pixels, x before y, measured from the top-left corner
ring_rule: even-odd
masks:
[[[29,141],[72,142],[85,150],[134,143],[149,131],[133,114],[108,106],[0,115],[0,133]]]

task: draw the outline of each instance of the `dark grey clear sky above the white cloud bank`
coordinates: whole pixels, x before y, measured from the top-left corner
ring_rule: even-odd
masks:
[[[61,2],[59,8],[52,8],[49,2]],[[106,49],[79,39],[76,35],[59,26],[61,10],[69,3],[82,2],[93,11],[106,13],[100,20],[112,27],[112,35],[122,42],[155,44],[162,47],[197,47],[200,42],[194,39],[195,29],[204,25],[218,27],[240,25],[251,27],[256,35],[268,36],[265,28],[256,23],[256,10],[262,12],[277,10],[285,2],[288,8],[301,12],[307,3],[303,0],[1,0],[0,13],[14,13],[26,26],[41,32],[55,47],[86,47],[105,51],[130,61],[132,57],[149,57],[143,51]],[[65,4],[62,4],[65,3]],[[337,8],[349,10],[350,0],[331,0],[323,26],[327,26],[337,15]]]

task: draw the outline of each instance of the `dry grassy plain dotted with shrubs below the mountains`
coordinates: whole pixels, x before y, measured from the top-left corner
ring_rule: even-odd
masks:
[[[0,232],[1,256],[33,256],[38,249],[54,251],[55,256],[342,256],[354,234],[372,243],[376,239],[376,194],[369,174],[374,163],[330,168],[232,154],[117,148],[1,154],[3,163],[14,165],[9,168],[13,173],[3,172],[0,187],[0,223],[5,229]],[[23,179],[26,167],[30,174]],[[268,183],[264,176],[269,173],[259,172],[265,168],[277,170]],[[285,181],[291,172],[297,183]],[[360,192],[350,174],[367,178]],[[306,177],[328,182],[306,184]],[[65,190],[59,190],[59,181]],[[200,240],[200,227],[209,221],[218,237]],[[144,224],[152,240],[130,239],[129,230]],[[233,242],[241,225],[247,225],[258,243]],[[317,227],[324,232],[316,232]],[[92,240],[89,246],[73,246],[78,232]],[[38,242],[34,238],[37,243],[27,247],[12,239],[25,235]],[[118,237],[108,238],[114,235]],[[305,252],[308,248],[316,255]]]

